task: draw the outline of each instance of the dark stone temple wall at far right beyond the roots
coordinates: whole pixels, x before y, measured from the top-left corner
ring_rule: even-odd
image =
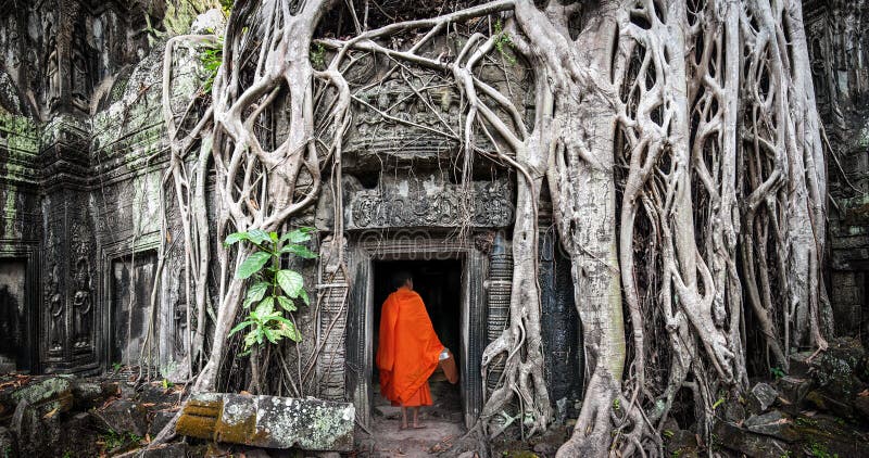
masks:
[[[869,3],[807,1],[804,22],[827,153],[828,291],[835,332],[869,343]]]

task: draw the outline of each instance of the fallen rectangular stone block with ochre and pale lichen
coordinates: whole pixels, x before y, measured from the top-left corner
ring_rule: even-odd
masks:
[[[257,447],[349,451],[354,419],[348,403],[206,393],[188,400],[176,432]]]

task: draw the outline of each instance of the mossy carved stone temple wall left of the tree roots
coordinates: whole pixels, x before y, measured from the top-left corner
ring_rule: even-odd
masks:
[[[160,216],[162,46],[146,33],[160,21],[121,1],[25,3],[0,18],[0,370],[136,365],[153,315],[155,369],[186,373],[178,243],[158,269],[161,230],[179,240],[172,196],[165,228]],[[176,58],[181,105],[203,74],[197,50]]]

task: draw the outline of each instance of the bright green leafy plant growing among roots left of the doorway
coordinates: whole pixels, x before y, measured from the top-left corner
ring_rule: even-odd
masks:
[[[295,342],[302,340],[293,322],[284,316],[284,311],[295,311],[293,300],[301,300],[305,305],[311,301],[305,292],[302,275],[295,270],[281,269],[280,258],[284,255],[305,259],[317,257],[302,245],[311,240],[314,231],[313,228],[299,228],[279,237],[277,232],[254,229],[231,233],[226,238],[224,244],[227,246],[247,241],[256,247],[236,270],[237,279],[253,280],[242,304],[250,313],[229,331],[229,335],[232,335],[250,328],[244,335],[244,354],[250,353],[254,344],[263,345],[266,341],[274,344],[284,338]]]

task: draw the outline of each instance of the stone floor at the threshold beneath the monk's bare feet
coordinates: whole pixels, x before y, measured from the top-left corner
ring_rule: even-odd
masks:
[[[401,408],[391,406],[380,395],[379,386],[375,386],[371,411],[373,436],[360,437],[357,456],[431,457],[446,451],[465,434],[458,385],[451,385],[441,372],[432,376],[429,382],[434,405],[420,410],[419,421],[426,425],[420,430],[400,431]]]

